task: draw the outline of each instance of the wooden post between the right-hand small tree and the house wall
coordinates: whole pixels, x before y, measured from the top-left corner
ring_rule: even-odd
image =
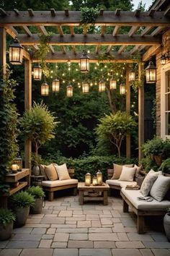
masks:
[[[143,63],[139,64],[138,77],[141,79]],[[143,158],[141,145],[144,143],[144,85],[138,88],[138,159]]]

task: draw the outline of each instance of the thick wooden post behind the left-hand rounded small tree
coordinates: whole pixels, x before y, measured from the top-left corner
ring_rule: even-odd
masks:
[[[30,60],[24,61],[24,110],[27,111],[32,106],[32,64]],[[24,168],[31,169],[31,141],[24,142]]]

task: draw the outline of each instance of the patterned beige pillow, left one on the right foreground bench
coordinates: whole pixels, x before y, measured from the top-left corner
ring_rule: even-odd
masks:
[[[149,195],[149,192],[151,190],[151,187],[153,186],[153,183],[156,181],[156,179],[158,178],[158,175],[160,174],[162,174],[161,171],[151,170],[148,172],[140,188],[140,192],[143,194],[144,197]]]

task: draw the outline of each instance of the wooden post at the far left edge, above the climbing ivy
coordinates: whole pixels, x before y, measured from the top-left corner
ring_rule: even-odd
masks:
[[[0,78],[4,79],[6,75],[6,30],[0,27]]]

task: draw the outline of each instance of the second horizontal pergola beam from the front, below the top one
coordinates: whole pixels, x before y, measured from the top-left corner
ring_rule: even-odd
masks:
[[[31,38],[28,38],[25,35],[18,35],[18,39],[22,45],[34,45],[34,44],[40,44],[40,38],[38,35],[32,35]],[[143,45],[146,44],[148,46],[158,45],[161,43],[161,38],[159,37],[151,37],[151,35],[146,35],[145,37],[141,37],[140,35],[134,35],[132,38],[128,38],[127,35],[117,35],[116,37],[113,37],[110,34],[104,35],[102,37],[101,35],[87,35],[84,37],[84,35],[76,34],[74,36],[71,35],[64,35],[61,37],[61,35],[53,35],[50,38],[50,44],[54,46],[68,46],[68,45],[74,45],[74,46],[80,46],[80,45],[91,45],[96,46],[97,44],[101,46],[108,46],[108,45],[115,45],[115,46],[121,46],[121,45]]]

